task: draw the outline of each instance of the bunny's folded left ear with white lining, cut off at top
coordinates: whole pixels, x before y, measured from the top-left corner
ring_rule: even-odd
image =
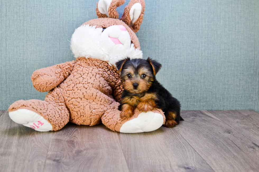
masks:
[[[125,2],[125,0],[99,0],[96,7],[96,14],[98,18],[119,18],[119,13],[117,12],[116,8]]]

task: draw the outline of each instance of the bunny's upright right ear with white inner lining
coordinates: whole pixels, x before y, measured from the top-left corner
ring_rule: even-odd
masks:
[[[145,12],[144,0],[131,0],[125,7],[121,20],[136,33],[140,29]]]

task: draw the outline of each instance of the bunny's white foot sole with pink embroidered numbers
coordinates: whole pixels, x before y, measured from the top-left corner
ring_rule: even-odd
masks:
[[[50,131],[52,130],[52,125],[45,120],[41,115],[27,110],[27,109],[18,109],[13,112],[9,112],[10,118],[26,127],[31,127],[36,131]]]

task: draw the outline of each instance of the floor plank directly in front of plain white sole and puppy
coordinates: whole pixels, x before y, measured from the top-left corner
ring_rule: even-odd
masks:
[[[146,133],[118,133],[129,170],[213,171],[179,134],[181,124]]]

